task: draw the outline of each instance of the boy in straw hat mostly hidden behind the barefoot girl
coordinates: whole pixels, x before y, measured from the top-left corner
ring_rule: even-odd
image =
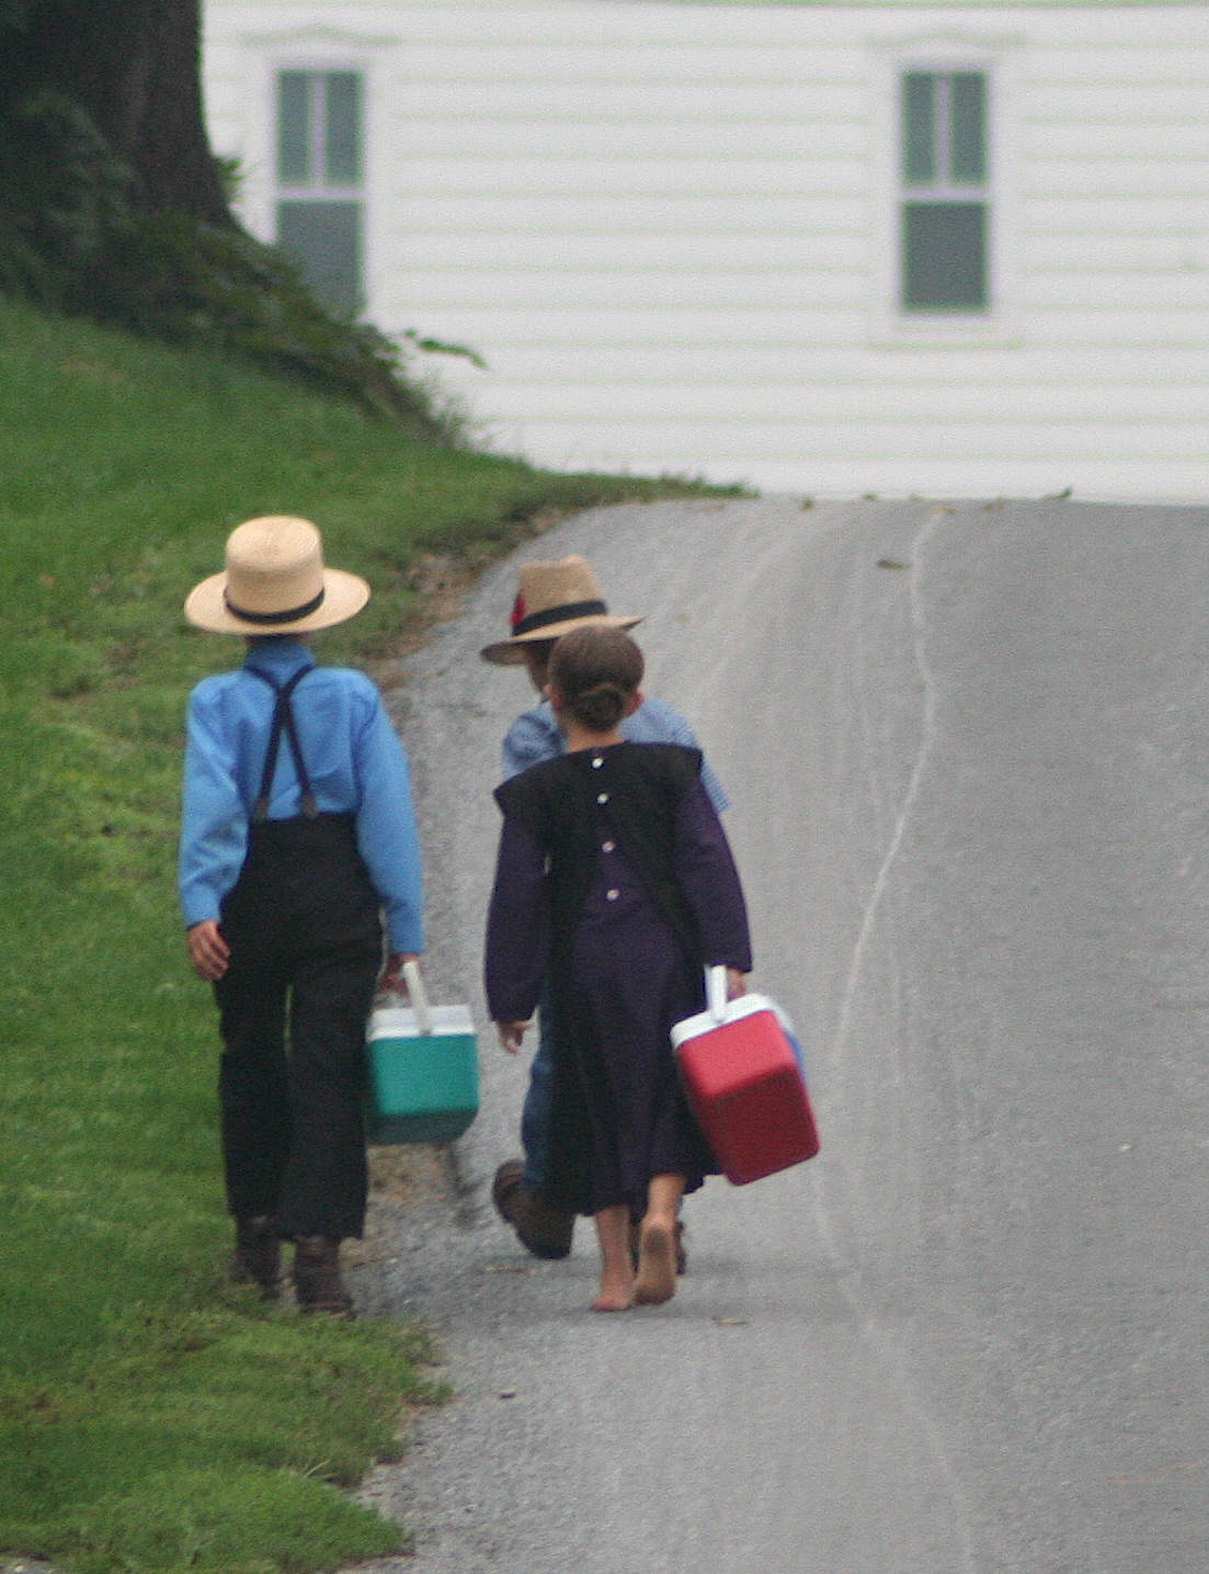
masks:
[[[590,623],[605,628],[634,628],[641,617],[612,614],[601,595],[596,575],[583,557],[522,563],[517,570],[517,597],[513,603],[508,639],[495,641],[481,655],[497,666],[524,666],[539,694],[546,691],[547,667],[555,642]],[[643,699],[638,710],[621,722],[627,743],[679,743],[700,749],[693,729],[671,705]],[[566,752],[553,710],[542,699],[517,716],[503,740],[503,776],[509,781],[542,760]],[[714,807],[722,812],[729,800],[709,765],[701,767],[701,782]],[[549,1011],[541,1015],[538,1053],[530,1067],[530,1083],[520,1116],[524,1162],[509,1158],[495,1171],[492,1198],[500,1217],[516,1229],[527,1251],[538,1258],[564,1258],[571,1251],[575,1215],[553,1207],[541,1196],[546,1180],[550,1105],[553,1097],[553,1044]],[[679,1250],[684,1264],[682,1247]]]

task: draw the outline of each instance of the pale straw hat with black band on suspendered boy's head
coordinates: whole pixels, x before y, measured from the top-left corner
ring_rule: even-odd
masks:
[[[195,586],[184,615],[214,634],[308,634],[343,623],[368,600],[365,579],[324,568],[310,519],[267,515],[231,530],[226,568]]]

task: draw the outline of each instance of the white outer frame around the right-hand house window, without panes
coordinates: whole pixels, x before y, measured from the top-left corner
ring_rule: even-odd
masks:
[[[876,39],[869,46],[874,131],[871,192],[871,321],[874,346],[976,348],[1022,342],[1016,261],[1019,38],[965,33]],[[902,79],[912,72],[951,77],[973,71],[986,77],[987,175],[978,200],[987,205],[987,305],[961,312],[902,309],[902,217],[909,187],[902,181]],[[964,187],[953,192],[970,195]],[[937,186],[939,198],[950,195]],[[931,195],[931,194],[929,194]]]

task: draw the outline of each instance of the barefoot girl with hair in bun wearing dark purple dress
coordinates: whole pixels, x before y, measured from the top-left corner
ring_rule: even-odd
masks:
[[[568,752],[497,789],[503,831],[487,921],[487,1004],[516,1053],[542,981],[555,1034],[542,1196],[591,1214],[594,1311],[676,1291],[676,1209],[717,1173],[685,1102],[670,1029],[704,1006],[703,966],[744,992],[739,875],[696,749],[626,743],[643,658],[621,630],[577,628],[546,689]],[[641,1220],[637,1275],[630,1220]]]

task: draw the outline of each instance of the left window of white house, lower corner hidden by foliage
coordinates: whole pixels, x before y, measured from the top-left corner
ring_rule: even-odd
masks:
[[[362,98],[357,71],[277,76],[277,244],[347,313],[363,305]]]

